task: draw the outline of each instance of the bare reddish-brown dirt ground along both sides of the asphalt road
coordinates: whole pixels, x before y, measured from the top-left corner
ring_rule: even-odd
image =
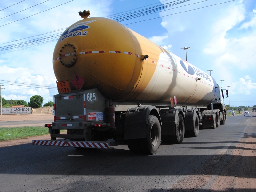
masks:
[[[0,121],[45,120],[49,118],[53,119],[53,115],[40,112],[31,115],[2,115]],[[196,170],[195,174],[188,175],[182,181],[172,184],[170,191],[256,192],[256,138],[252,136],[253,134],[245,133],[244,137],[240,139],[220,174],[209,174],[211,170],[214,172],[214,169],[220,166],[218,163],[221,159],[212,159],[212,167],[209,167],[209,162],[202,165],[200,170]],[[43,135],[29,137],[28,139],[4,141],[0,142],[0,147],[31,143],[32,140],[37,139],[50,140],[50,136]],[[204,174],[205,172],[208,174]]]

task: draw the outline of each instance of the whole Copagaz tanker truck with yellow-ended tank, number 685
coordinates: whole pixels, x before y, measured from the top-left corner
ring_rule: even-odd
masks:
[[[34,145],[113,148],[112,140],[151,155],[161,142],[225,124],[212,76],[114,20],[79,15],[53,53],[59,94],[54,122],[45,124],[51,140]]]

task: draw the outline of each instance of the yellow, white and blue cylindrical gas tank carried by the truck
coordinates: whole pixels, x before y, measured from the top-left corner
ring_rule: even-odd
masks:
[[[84,18],[60,36],[53,53],[57,81],[84,79],[109,98],[207,104],[215,99],[214,79],[122,24]],[[199,80],[200,78],[200,80]],[[75,89],[75,88],[73,88]]]

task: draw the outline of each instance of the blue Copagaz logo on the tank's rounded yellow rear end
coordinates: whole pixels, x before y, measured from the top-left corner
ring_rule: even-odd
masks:
[[[88,31],[85,31],[84,29],[90,28],[90,26],[88,26],[87,24],[92,23],[94,21],[96,20],[85,21],[85,22],[77,23],[76,25],[71,26],[70,28],[68,28],[68,30],[66,30],[61,35],[59,42],[69,37],[80,36],[80,35],[85,36]]]

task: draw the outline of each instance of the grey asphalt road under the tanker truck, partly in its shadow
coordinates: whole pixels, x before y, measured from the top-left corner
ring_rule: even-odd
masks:
[[[200,192],[208,191],[239,140],[255,134],[255,120],[255,116],[228,116],[225,125],[202,129],[198,137],[185,138],[182,144],[163,144],[151,156],[132,154],[126,145],[96,150],[32,144],[1,147],[0,192],[165,192],[189,175],[208,176]]]

